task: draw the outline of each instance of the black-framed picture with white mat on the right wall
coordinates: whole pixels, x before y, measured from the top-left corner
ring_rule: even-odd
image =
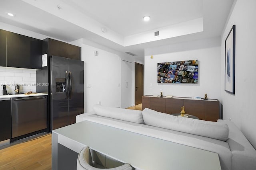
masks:
[[[236,25],[230,29],[225,40],[225,91],[235,94]]]

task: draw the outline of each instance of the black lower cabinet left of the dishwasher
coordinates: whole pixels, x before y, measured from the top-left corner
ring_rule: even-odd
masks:
[[[11,139],[12,134],[12,105],[11,100],[0,100],[0,141]]]

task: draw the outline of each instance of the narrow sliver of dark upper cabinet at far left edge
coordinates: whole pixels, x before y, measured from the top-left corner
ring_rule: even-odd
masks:
[[[6,33],[0,29],[0,66],[6,66]]]

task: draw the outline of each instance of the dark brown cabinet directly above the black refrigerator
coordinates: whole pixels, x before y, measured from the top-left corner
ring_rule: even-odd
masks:
[[[43,54],[81,60],[81,47],[47,38],[43,40]]]

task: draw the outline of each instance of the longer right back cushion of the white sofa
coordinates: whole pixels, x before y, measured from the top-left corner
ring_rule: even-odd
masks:
[[[229,129],[225,123],[176,117],[148,108],[142,111],[142,115],[145,125],[210,137],[221,141],[228,139]]]

